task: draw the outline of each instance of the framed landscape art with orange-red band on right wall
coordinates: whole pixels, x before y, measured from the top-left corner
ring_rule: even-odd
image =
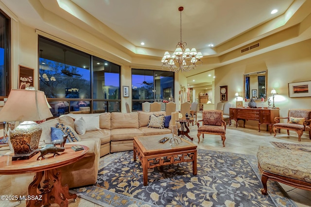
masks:
[[[290,98],[311,96],[311,80],[288,83],[288,96]]]

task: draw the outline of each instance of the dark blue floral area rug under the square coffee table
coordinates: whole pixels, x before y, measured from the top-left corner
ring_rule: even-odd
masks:
[[[97,183],[71,190],[104,207],[291,207],[293,202],[277,182],[268,181],[269,195],[260,189],[257,159],[252,155],[198,149],[197,175],[192,163],[148,169],[133,151],[113,153],[100,161]]]

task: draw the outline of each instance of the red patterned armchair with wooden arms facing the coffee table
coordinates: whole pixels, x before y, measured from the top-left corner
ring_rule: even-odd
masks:
[[[202,126],[200,127],[200,123]],[[225,146],[225,121],[223,119],[223,111],[221,110],[206,110],[202,112],[202,120],[198,121],[198,143],[200,143],[200,136],[203,134],[216,134],[222,137],[223,146]]]

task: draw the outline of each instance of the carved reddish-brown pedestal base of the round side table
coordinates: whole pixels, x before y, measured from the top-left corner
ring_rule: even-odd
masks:
[[[60,207],[68,207],[68,199],[77,198],[76,194],[69,193],[68,185],[62,186],[61,173],[57,169],[37,172],[34,181],[28,187],[28,195],[37,196],[42,200],[27,200],[27,207],[48,207],[53,203]]]

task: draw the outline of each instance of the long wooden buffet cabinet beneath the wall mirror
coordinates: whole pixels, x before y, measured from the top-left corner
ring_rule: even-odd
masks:
[[[238,120],[243,120],[245,127],[245,120],[258,121],[258,128],[260,132],[260,125],[266,124],[267,128],[270,126],[270,134],[272,125],[275,124],[274,118],[279,117],[279,109],[267,109],[267,108],[230,108],[230,120],[235,120],[236,127]]]

